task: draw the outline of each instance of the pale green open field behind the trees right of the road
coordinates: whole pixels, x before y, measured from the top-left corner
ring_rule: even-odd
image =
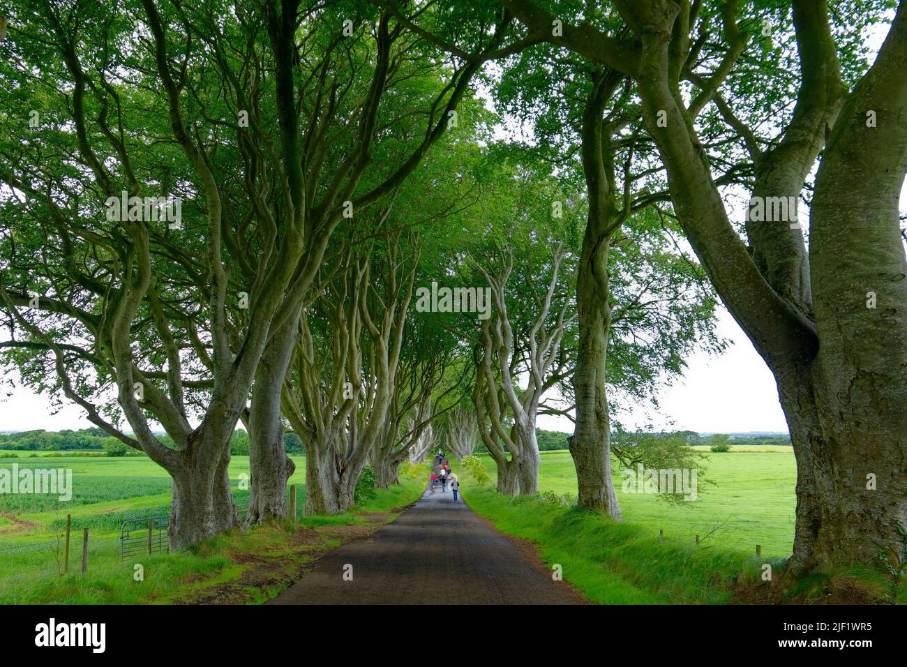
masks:
[[[707,447],[700,447],[705,451]],[[766,451],[766,449],[768,451]],[[485,469],[495,477],[494,463],[481,455]],[[701,467],[697,500],[680,505],[656,495],[625,494],[619,466],[614,483],[624,521],[647,528],[654,535],[719,546],[727,551],[754,554],[762,544],[766,557],[786,557],[794,544],[796,464],[791,447],[743,447],[708,453]],[[703,479],[714,486],[703,484]],[[541,452],[539,489],[576,495],[576,471],[570,452]]]

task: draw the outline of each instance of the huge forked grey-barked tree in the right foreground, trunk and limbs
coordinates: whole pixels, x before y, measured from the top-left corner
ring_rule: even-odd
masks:
[[[535,29],[554,20],[529,2],[503,4]],[[907,518],[900,409],[907,273],[897,201],[907,131],[893,119],[907,100],[898,72],[907,10],[898,6],[874,63],[848,91],[827,7],[795,0],[796,104],[783,136],[765,150],[719,95],[752,37],[736,3],[721,5],[720,34],[705,22],[696,34],[703,5],[615,5],[629,33],[565,21],[550,39],[637,81],[678,221],[775,375],[797,459],[792,568],[872,564],[880,552],[898,552]],[[721,55],[699,60],[709,39],[723,44]],[[686,98],[685,79],[696,86]],[[697,115],[712,102],[753,156],[756,201],[796,201],[822,152],[808,250],[789,210],[767,220],[751,214],[749,248],[740,239],[698,139]]]

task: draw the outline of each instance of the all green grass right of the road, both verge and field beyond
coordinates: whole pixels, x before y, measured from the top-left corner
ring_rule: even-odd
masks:
[[[785,573],[787,554],[769,531],[772,525],[784,526],[778,515],[787,511],[785,495],[793,495],[794,481],[784,488],[778,469],[785,460],[766,461],[771,453],[712,456],[708,466],[717,486],[688,504],[668,505],[652,495],[619,491],[622,522],[571,506],[576,480],[569,453],[541,456],[539,495],[502,496],[494,490],[494,479],[483,486],[470,485],[467,477],[463,499],[502,533],[534,543],[542,559],[551,567],[561,565],[564,579],[592,602],[907,603],[907,577],[899,581],[880,568],[840,569],[798,580]],[[483,463],[493,475],[491,462]],[[730,515],[723,531],[708,535],[715,512]],[[707,539],[696,544],[694,531]],[[775,553],[765,547],[761,556],[755,549],[746,553],[739,548],[741,535],[755,544],[774,544]],[[766,565],[771,581],[763,580]]]

